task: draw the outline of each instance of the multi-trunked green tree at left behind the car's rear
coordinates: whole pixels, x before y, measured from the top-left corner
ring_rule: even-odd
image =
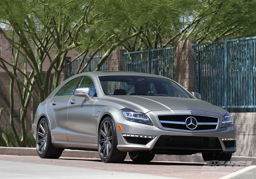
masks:
[[[30,102],[44,101],[59,84],[61,71],[76,58],[105,51],[96,70],[117,46],[143,32],[154,12],[152,3],[120,0],[2,0],[0,33],[10,44],[12,59],[0,58],[0,67],[11,77],[10,123],[19,146],[26,146],[26,113]],[[136,32],[126,29],[138,27]],[[71,50],[77,57],[65,64]],[[49,61],[46,71],[43,64]],[[90,61],[90,59],[89,59]],[[89,62],[88,62],[89,63]],[[88,65],[88,63],[86,65]],[[85,66],[80,65],[77,73]],[[12,69],[12,70],[10,70]],[[52,89],[48,89],[54,72]],[[17,75],[17,74],[20,75]],[[13,86],[18,84],[22,103],[20,140],[13,123]]]

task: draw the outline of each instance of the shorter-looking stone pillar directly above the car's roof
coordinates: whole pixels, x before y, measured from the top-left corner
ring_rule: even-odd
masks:
[[[109,71],[124,71],[124,53],[126,49],[115,49],[109,55]]]

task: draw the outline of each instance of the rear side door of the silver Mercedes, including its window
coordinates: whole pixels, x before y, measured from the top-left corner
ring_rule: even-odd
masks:
[[[68,140],[68,103],[80,79],[81,77],[78,77],[69,81],[46,104],[46,111],[51,121],[52,136],[55,140]]]

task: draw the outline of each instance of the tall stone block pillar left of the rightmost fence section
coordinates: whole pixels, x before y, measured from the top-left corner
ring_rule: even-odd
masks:
[[[193,85],[193,48],[196,41],[180,41],[175,43],[175,81],[185,87],[188,91],[194,90]]]

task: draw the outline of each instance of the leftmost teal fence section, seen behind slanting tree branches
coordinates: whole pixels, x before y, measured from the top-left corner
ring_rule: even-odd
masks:
[[[86,57],[84,59],[84,61],[82,62],[82,68],[83,66],[87,63],[87,61],[90,59],[91,56],[89,57]],[[96,69],[97,67],[97,64],[99,63],[100,59],[101,59],[102,56],[96,56],[96,57],[93,57],[93,59],[91,60],[91,62],[89,63],[89,65],[87,66],[87,68],[84,70],[84,72],[92,72]],[[70,60],[68,60],[68,62],[70,62]],[[75,61],[73,61],[71,64],[69,64],[69,67],[68,67],[68,76],[73,76],[77,69],[79,68],[79,65],[82,61],[82,58],[78,58],[76,59]],[[103,63],[103,65],[101,66],[100,68],[100,71],[108,71],[109,69],[109,58],[106,59],[106,61]]]

